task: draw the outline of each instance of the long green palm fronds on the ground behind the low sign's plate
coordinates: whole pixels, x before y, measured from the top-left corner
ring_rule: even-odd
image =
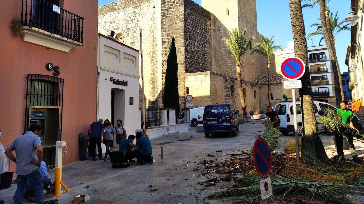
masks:
[[[292,193],[293,195],[304,195],[306,197],[318,197],[329,203],[353,203],[346,196],[350,193],[364,194],[360,191],[351,190],[355,188],[364,188],[360,185],[338,184],[325,181],[310,181],[308,179],[276,176],[272,179],[272,188],[274,193]],[[260,197],[260,177],[254,178],[237,178],[238,182],[245,184],[242,188],[228,189],[211,194],[210,197],[229,197],[244,196],[243,198],[234,199],[242,203],[253,203]]]

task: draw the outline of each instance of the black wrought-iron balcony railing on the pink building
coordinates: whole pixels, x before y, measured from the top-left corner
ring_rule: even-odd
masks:
[[[22,0],[20,23],[83,43],[83,17],[46,0]]]

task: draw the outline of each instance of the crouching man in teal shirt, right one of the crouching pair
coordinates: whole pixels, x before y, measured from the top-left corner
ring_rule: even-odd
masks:
[[[150,144],[149,136],[147,135],[147,130],[143,129],[144,136],[142,132],[136,132],[135,138],[137,138],[137,150],[134,150],[133,156],[137,158],[139,162],[138,165],[143,165],[147,162],[153,164],[152,156],[152,145]]]

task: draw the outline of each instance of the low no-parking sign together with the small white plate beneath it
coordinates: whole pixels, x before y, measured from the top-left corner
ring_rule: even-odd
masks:
[[[255,139],[253,145],[254,165],[258,174],[264,178],[260,181],[262,203],[269,204],[269,198],[273,196],[270,177],[266,178],[272,167],[272,155],[268,143],[260,136]]]

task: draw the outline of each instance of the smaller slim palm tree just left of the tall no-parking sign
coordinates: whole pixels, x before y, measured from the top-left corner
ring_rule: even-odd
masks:
[[[276,50],[283,50],[283,46],[281,45],[274,45],[273,36],[268,39],[262,37],[262,42],[256,43],[253,46],[252,52],[250,55],[253,54],[262,54],[264,57],[267,58],[267,71],[268,71],[268,106],[272,106],[272,100],[270,98],[270,57],[274,54]]]

